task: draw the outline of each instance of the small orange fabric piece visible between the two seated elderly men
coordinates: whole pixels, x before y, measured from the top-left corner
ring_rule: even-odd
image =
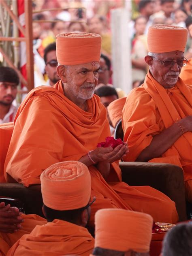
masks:
[[[125,105],[127,97],[119,98],[117,100],[113,100],[109,106],[107,107],[107,111],[109,113],[109,118],[113,127],[115,128],[117,122],[122,119],[122,110]]]

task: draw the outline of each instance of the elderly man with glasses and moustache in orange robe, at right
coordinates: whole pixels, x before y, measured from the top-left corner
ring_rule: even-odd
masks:
[[[192,202],[192,86],[179,78],[187,35],[181,27],[149,27],[149,72],[128,95],[122,122],[130,150],[124,160],[180,166]]]

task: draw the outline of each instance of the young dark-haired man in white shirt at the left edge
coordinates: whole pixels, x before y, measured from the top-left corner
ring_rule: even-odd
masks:
[[[13,100],[17,95],[19,77],[13,68],[0,67],[0,124],[13,122],[17,107]]]

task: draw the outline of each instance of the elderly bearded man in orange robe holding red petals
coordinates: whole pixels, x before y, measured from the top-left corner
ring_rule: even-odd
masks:
[[[170,198],[149,186],[122,182],[118,160],[128,153],[126,144],[97,147],[110,136],[107,111],[94,95],[100,46],[97,34],[57,36],[61,80],[53,87],[35,88],[19,107],[5,160],[6,180],[40,184],[41,173],[51,164],[77,160],[89,168],[92,196],[97,198],[90,225],[94,226],[98,209],[111,207],[149,213],[155,221],[177,222]]]

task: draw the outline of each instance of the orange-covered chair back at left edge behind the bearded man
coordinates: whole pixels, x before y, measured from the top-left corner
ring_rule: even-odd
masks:
[[[11,141],[11,136],[13,133],[13,122],[6,123],[6,124],[0,124],[0,182],[6,182],[4,175],[3,175],[3,169],[4,169],[4,162],[6,158],[6,154],[9,148],[9,144]]]

